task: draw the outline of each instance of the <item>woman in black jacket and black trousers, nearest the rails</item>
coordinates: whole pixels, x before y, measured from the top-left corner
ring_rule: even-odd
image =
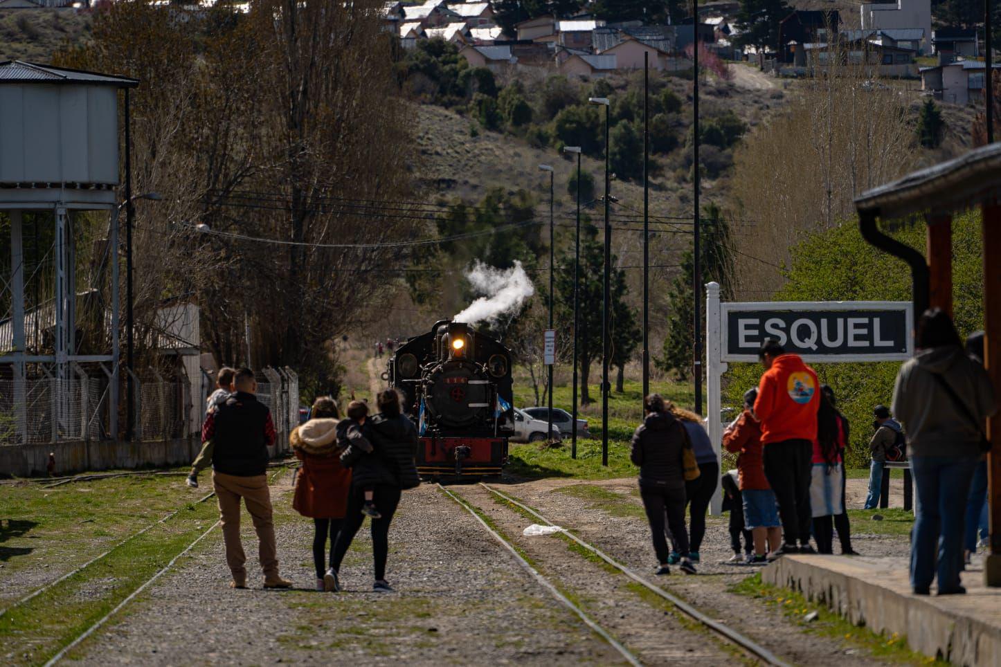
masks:
[[[684,451],[691,445],[685,427],[667,409],[660,394],[648,396],[644,407],[647,418],[633,434],[630,458],[640,466],[640,497],[647,510],[654,550],[660,563],[657,574],[671,574],[665,518],[682,554],[682,571],[695,574],[695,566],[689,559],[688,530],[685,527]]]

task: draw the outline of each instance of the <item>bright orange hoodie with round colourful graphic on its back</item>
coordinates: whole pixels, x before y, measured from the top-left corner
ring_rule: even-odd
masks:
[[[761,376],[754,404],[762,443],[816,440],[819,389],[817,373],[798,354],[776,357]]]

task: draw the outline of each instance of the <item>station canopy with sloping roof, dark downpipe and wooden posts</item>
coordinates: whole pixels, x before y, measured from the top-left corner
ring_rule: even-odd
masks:
[[[859,229],[873,246],[911,267],[915,317],[929,307],[952,314],[952,216],[979,207],[983,226],[984,363],[1001,395],[1001,143],[904,176],[855,200]],[[926,252],[879,229],[878,221],[923,218]],[[988,420],[991,442],[1001,441],[1001,414]],[[1001,586],[1001,445],[988,456],[990,553],[984,563],[988,586]]]

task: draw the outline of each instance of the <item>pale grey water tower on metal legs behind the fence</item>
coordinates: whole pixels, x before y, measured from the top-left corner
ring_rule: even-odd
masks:
[[[108,435],[117,435],[118,90],[125,89],[127,113],[128,89],[136,85],[119,76],[0,62],[0,212],[10,223],[9,267],[0,257],[0,386],[11,388],[0,392],[9,397],[0,396],[0,415],[13,417],[8,441],[71,437],[73,429],[64,427],[78,408],[64,383],[82,363],[100,364],[107,375]],[[92,327],[101,332],[97,350],[81,349],[78,334],[76,218],[86,211],[111,213],[107,242],[94,251],[103,253],[110,272],[110,303],[97,308]],[[0,238],[0,248],[6,241]],[[37,413],[26,393],[28,369],[49,380],[51,400]],[[33,430],[29,438],[42,418],[52,424],[51,436]]]

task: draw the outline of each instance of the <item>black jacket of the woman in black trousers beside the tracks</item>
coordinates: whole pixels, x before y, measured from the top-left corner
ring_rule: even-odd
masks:
[[[640,486],[650,489],[684,489],[688,443],[685,426],[670,412],[652,412],[633,434],[630,459],[640,466]]]

